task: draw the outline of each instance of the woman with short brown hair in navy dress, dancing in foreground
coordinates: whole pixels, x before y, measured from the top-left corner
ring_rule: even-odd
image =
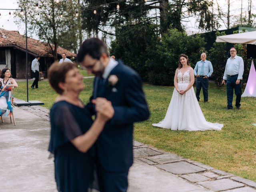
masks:
[[[79,99],[84,89],[82,75],[73,63],[54,63],[50,85],[59,94],[50,111],[49,151],[54,155],[55,180],[59,192],[87,192],[94,181],[92,145],[105,123],[112,118],[111,102],[97,108],[94,122]]]

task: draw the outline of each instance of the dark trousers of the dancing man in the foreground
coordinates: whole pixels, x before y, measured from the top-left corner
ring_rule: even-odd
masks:
[[[106,171],[97,163],[97,175],[100,192],[126,192],[128,189],[128,172]]]

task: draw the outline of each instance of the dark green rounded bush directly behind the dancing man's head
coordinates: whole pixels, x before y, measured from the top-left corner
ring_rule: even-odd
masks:
[[[158,30],[155,25],[126,25],[116,29],[116,39],[111,42],[110,54],[121,59],[126,65],[134,68],[144,81],[148,80],[148,58],[159,43]]]

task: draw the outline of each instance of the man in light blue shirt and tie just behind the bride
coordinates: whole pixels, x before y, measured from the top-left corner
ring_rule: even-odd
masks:
[[[201,54],[201,61],[196,63],[194,74],[196,76],[196,98],[200,100],[201,88],[203,88],[204,102],[208,102],[209,77],[212,75],[212,63],[206,60],[206,53]]]

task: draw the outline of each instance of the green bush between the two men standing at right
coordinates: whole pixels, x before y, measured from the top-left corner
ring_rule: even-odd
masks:
[[[216,32],[216,37],[222,35],[225,35],[225,32]],[[212,48],[210,49],[210,55],[208,58],[212,62],[213,66],[211,78],[214,79],[218,86],[222,86],[222,79],[228,54],[229,53],[226,51],[226,43],[223,42],[214,42]]]

